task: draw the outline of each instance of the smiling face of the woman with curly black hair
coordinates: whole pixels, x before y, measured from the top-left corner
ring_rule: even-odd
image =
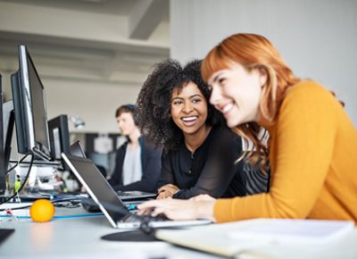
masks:
[[[195,83],[187,83],[180,91],[178,88],[173,90],[171,117],[184,135],[203,129],[207,114],[207,100]]]

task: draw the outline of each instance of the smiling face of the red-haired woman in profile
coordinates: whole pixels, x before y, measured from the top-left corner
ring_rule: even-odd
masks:
[[[239,63],[230,63],[228,69],[216,71],[208,80],[212,89],[211,104],[227,120],[229,128],[250,121],[258,121],[265,71],[258,68],[247,71]]]

